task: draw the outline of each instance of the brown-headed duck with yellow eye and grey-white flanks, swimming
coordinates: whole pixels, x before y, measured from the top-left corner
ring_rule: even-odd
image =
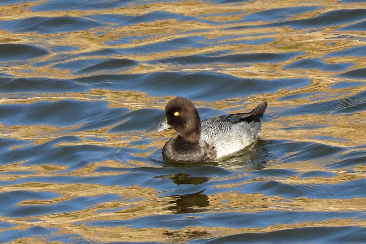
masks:
[[[178,135],[165,143],[164,160],[217,160],[253,144],[258,139],[266,108],[267,102],[263,101],[250,112],[201,120],[191,100],[175,97],[165,106],[164,119],[146,132],[156,133],[169,128],[178,132]]]

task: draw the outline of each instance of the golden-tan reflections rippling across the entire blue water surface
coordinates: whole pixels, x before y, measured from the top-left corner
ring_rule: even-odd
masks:
[[[170,50],[165,52],[152,52],[149,54],[126,54],[116,55],[116,58],[128,58],[141,62],[139,65],[126,70],[105,71],[106,73],[115,74],[144,74],[150,72],[160,71],[202,71],[213,70],[216,72],[222,72],[223,74],[237,76],[239,78],[258,78],[272,80],[276,78],[309,78],[310,84],[298,89],[280,89],[270,94],[253,95],[246,104],[230,104],[229,100],[215,101],[215,102],[202,102],[195,101],[198,107],[210,107],[217,110],[226,109],[239,109],[248,110],[253,104],[262,101],[266,98],[271,105],[268,108],[269,113],[273,111],[273,108],[284,108],[286,106],[296,107],[301,104],[312,104],[322,101],[329,101],[332,97],[338,99],[347,98],[352,95],[356,95],[364,90],[364,86],[345,87],[345,88],[331,88],[330,85],[347,80],[347,82],[359,81],[352,79],[336,78],[334,75],[340,74],[340,72],[326,72],[318,69],[292,69],[285,70],[284,65],[294,63],[300,59],[310,58],[322,58],[329,52],[337,52],[347,48],[355,46],[364,46],[365,42],[360,41],[356,37],[364,37],[365,33],[356,31],[339,31],[336,30],[340,27],[346,26],[330,26],[321,28],[321,30],[309,31],[309,30],[294,30],[290,27],[264,27],[257,29],[240,29],[233,30],[231,27],[238,26],[255,26],[260,24],[266,24],[266,22],[249,22],[249,23],[226,23],[229,21],[240,20],[244,16],[254,12],[263,10],[272,10],[274,8],[288,8],[288,7],[321,7],[314,11],[309,11],[304,14],[299,14],[291,19],[304,19],[318,16],[322,13],[328,12],[334,9],[344,8],[364,8],[364,3],[350,3],[340,4],[338,1],[307,1],[306,3],[299,3],[299,1],[254,1],[248,2],[243,5],[238,4],[213,4],[206,1],[178,1],[174,3],[160,2],[160,3],[145,3],[140,5],[127,5],[126,7],[120,7],[113,10],[87,10],[87,11],[44,11],[44,12],[32,12],[30,7],[44,3],[45,1],[34,1],[28,3],[4,5],[0,6],[1,20],[14,20],[25,19],[34,16],[42,17],[55,17],[55,16],[86,16],[95,14],[117,14],[138,16],[147,14],[152,11],[163,11],[176,14],[182,14],[187,16],[200,16],[199,19],[205,19],[216,23],[202,23],[192,21],[178,21],[177,19],[157,20],[154,22],[145,22],[134,25],[120,26],[120,27],[101,27],[100,29],[73,31],[71,33],[56,33],[56,34],[35,34],[35,33],[11,33],[5,30],[0,30],[0,43],[26,43],[32,44],[32,40],[36,40],[38,44],[43,44],[45,48],[49,48],[57,45],[70,45],[77,47],[78,50],[64,52],[64,55],[75,55],[72,59],[66,61],[57,61],[56,54],[50,52],[49,55],[38,57],[33,62],[49,62],[43,66],[34,67],[31,64],[19,64],[9,67],[0,67],[0,71],[4,74],[8,74],[15,77],[45,77],[45,78],[58,78],[58,79],[73,79],[91,74],[72,74],[70,70],[60,70],[52,67],[55,63],[76,61],[81,59],[94,59],[101,58],[100,56],[76,56],[78,54],[91,52],[95,50],[101,50],[109,47],[113,48],[134,48],[147,44],[160,43],[166,40],[173,40],[176,38],[199,36],[206,40],[212,40],[212,46],[205,46],[204,48],[184,48],[177,50]],[[243,14],[236,14],[243,12]],[[222,14],[222,15],[213,15]],[[192,30],[195,30],[193,32]],[[188,32],[189,31],[189,32]],[[98,34],[103,32],[102,34]],[[188,33],[187,33],[188,32]],[[263,34],[265,35],[255,35]],[[30,35],[33,39],[30,38]],[[121,39],[126,36],[145,37],[143,39],[135,40],[131,43],[120,43],[107,45],[106,42]],[[236,35],[247,35],[244,37],[235,37]],[[225,40],[217,40],[214,38],[226,37]],[[249,45],[249,44],[225,44],[227,41],[239,41],[239,40],[260,40],[262,38],[272,38],[270,41],[261,45]],[[328,45],[329,42],[333,42],[332,45]],[[287,52],[303,52],[303,55],[296,56],[292,59],[285,60],[276,63],[251,63],[249,67],[236,67],[230,64],[197,64],[197,65],[179,65],[173,64],[147,64],[145,62],[150,60],[166,59],[168,57],[201,55],[204,53],[212,53],[218,51],[227,51],[228,54],[245,54],[245,53],[287,53]],[[52,61],[56,60],[56,61]],[[363,68],[366,66],[365,57],[328,57],[322,58],[323,61],[329,64],[337,63],[354,63],[352,69]],[[24,70],[30,72],[23,72]],[[102,71],[103,72],[103,71]],[[100,74],[100,71],[98,71]],[[319,93],[326,93],[327,96],[322,96],[319,99],[319,95],[307,95],[303,98],[297,98],[296,100],[279,101],[288,95],[311,93],[316,90]],[[6,94],[3,94],[5,96]],[[157,108],[164,109],[166,102],[171,97],[147,97],[147,93],[137,91],[111,91],[107,89],[95,89],[84,93],[43,93],[43,94],[30,94],[29,98],[22,99],[2,99],[1,104],[32,104],[38,101],[61,101],[65,99],[79,100],[79,101],[108,101],[109,106],[113,108],[127,108],[130,110],[137,110],[141,108]],[[240,98],[238,98],[240,99]],[[160,101],[163,100],[163,101]],[[156,103],[157,101],[160,101]],[[250,104],[249,104],[250,103]],[[272,108],[271,108],[272,107]],[[235,111],[234,111],[235,112]],[[365,128],[366,112],[360,111],[350,116],[339,116],[332,114],[319,115],[296,115],[296,116],[284,116],[281,118],[272,118],[271,123],[264,123],[262,127],[261,136],[266,139],[274,140],[292,140],[299,142],[314,142],[328,144],[330,146],[337,147],[356,147],[364,146],[366,144],[366,130]],[[316,121],[316,122],[315,122]],[[121,121],[120,123],[123,123]],[[324,128],[311,128],[305,129],[308,125],[325,125]],[[153,140],[149,144],[134,145],[131,146],[131,142],[143,139],[141,131],[122,132],[122,133],[108,133],[107,131],[116,126],[110,125],[109,127],[95,129],[93,131],[76,131],[66,132],[67,130],[79,128],[81,124],[74,125],[73,128],[59,128],[49,125],[12,125],[4,126],[0,125],[1,136],[14,138],[19,140],[28,140],[33,144],[42,144],[53,140],[59,133],[62,135],[74,135],[78,136],[82,140],[80,142],[61,142],[55,144],[57,146],[74,146],[74,145],[99,145],[109,147],[134,147],[141,150],[146,150],[149,147],[153,149],[141,154],[135,154],[142,157],[148,157],[157,148],[161,148],[165,143],[165,140]],[[296,127],[291,130],[285,130],[285,127]],[[91,139],[87,139],[88,136],[100,136],[106,141],[99,142]],[[150,139],[161,139],[161,135],[164,139],[168,139],[172,136],[172,132],[164,132],[157,136],[153,135]],[[337,138],[336,140],[317,139],[317,136],[328,136],[329,138]],[[25,145],[14,146],[9,150],[18,149]],[[126,172],[94,172],[95,169],[108,166],[111,168],[121,167],[144,167],[150,166],[144,162],[130,161],[130,162],[115,162],[112,160],[104,162],[91,163],[83,168],[73,170],[67,173],[57,173],[66,169],[67,166],[60,165],[22,165],[24,162],[16,162],[14,164],[1,165],[1,172],[24,172],[35,171],[32,175],[37,176],[49,176],[51,173],[53,176],[75,176],[75,177],[87,177],[87,176],[107,176],[107,175],[119,175]],[[134,166],[129,166],[128,163]],[[314,164],[313,164],[314,163]],[[315,162],[296,162],[296,164],[287,165],[281,164],[268,164],[268,169],[281,169],[294,168],[299,173],[308,172],[314,165],[314,170],[320,170],[321,167]],[[356,179],[365,178],[365,174],[357,172],[365,172],[365,166],[357,166],[354,168],[356,173],[340,172],[328,169],[321,169],[324,172],[335,173],[332,177],[311,177],[311,178],[299,178],[298,176],[284,178],[262,178],[262,181],[276,180],[285,184],[337,184],[341,181],[350,181]],[[29,177],[27,174],[1,174],[1,179],[4,181],[14,181],[19,177]],[[171,176],[170,179],[178,180],[183,176]],[[182,180],[182,179],[180,179]],[[190,180],[185,178],[185,180]],[[191,179],[193,180],[193,179]],[[197,180],[197,179],[195,179]],[[202,180],[202,179],[201,179]],[[245,185],[251,181],[244,181],[239,185]],[[238,184],[223,184],[214,185],[216,188],[231,188],[238,187]],[[121,199],[111,202],[103,202],[96,204],[96,206],[89,209],[68,212],[68,213],[56,213],[47,214],[43,216],[31,217],[31,218],[11,218],[0,217],[0,221],[16,224],[15,227],[10,229],[24,230],[33,225],[40,225],[46,228],[57,227],[59,233],[57,234],[79,234],[86,239],[93,239],[99,242],[113,242],[113,241],[186,241],[198,237],[212,238],[227,236],[230,234],[247,233],[247,232],[269,232],[273,230],[281,230],[288,228],[298,228],[304,226],[366,226],[364,219],[326,219],[324,221],[313,222],[300,222],[294,224],[277,224],[275,226],[267,226],[265,228],[224,228],[224,227],[206,227],[206,226],[191,226],[188,228],[182,228],[179,230],[170,230],[167,228],[130,228],[128,226],[117,227],[104,227],[104,226],[85,226],[84,224],[78,224],[80,221],[93,222],[93,221],[111,221],[111,220],[128,220],[134,218],[141,218],[150,215],[170,214],[177,213],[179,210],[187,209],[187,206],[179,206],[181,203],[179,200],[184,196],[160,196],[160,192],[157,192],[154,188],[139,187],[137,185],[131,187],[120,186],[107,186],[99,184],[56,184],[56,183],[23,183],[7,186],[0,186],[0,192],[8,192],[22,189],[24,191],[51,191],[59,194],[60,197],[47,199],[47,200],[25,200],[19,202],[18,206],[25,205],[47,205],[60,203],[68,199],[72,199],[78,196],[98,196],[102,194],[116,194]],[[195,196],[197,197],[197,196]],[[202,207],[205,213],[220,213],[220,212],[232,212],[233,209],[243,213],[254,213],[259,211],[279,210],[279,211],[366,211],[366,201],[364,198],[352,198],[352,199],[307,199],[307,198],[295,198],[284,199],[279,196],[265,196],[263,194],[242,194],[240,192],[221,192],[214,195],[201,194],[201,201],[207,198],[209,202],[208,206]],[[205,198],[206,197],[206,198]],[[140,199],[133,202],[129,202],[128,199]],[[228,201],[223,201],[228,200]],[[182,204],[183,205],[183,204]],[[191,206],[192,211],[194,206]],[[199,209],[197,207],[197,209]],[[102,211],[102,210],[115,210],[115,211]],[[187,218],[195,218],[193,215]],[[49,243],[48,241],[35,238],[21,238],[17,239],[16,243],[31,243],[37,241],[37,243]]]

